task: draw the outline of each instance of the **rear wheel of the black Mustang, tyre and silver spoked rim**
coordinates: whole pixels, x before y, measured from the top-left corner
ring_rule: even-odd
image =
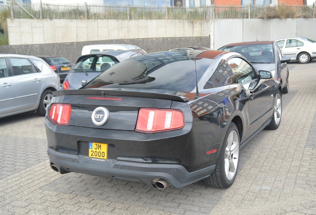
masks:
[[[239,144],[238,128],[232,122],[225,135],[215,170],[204,179],[206,185],[215,188],[229,188],[234,183],[239,164]]]

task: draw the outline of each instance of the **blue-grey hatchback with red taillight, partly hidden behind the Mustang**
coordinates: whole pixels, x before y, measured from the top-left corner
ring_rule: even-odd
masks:
[[[82,55],[70,71],[63,83],[63,90],[79,89],[87,82],[100,75],[115,64],[138,55],[146,54],[139,51],[103,51]]]

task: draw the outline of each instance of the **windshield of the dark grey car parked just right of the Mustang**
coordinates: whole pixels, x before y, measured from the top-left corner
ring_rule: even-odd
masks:
[[[237,52],[251,63],[274,63],[272,44],[226,46],[221,50]]]

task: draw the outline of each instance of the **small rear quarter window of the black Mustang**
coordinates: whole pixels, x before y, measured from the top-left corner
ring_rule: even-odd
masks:
[[[205,84],[204,89],[211,89],[213,87],[218,87],[230,83],[232,83],[232,78],[229,72],[225,69],[223,65],[219,65],[212,77]]]

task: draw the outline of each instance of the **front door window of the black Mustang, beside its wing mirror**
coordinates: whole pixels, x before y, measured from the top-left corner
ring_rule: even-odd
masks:
[[[228,60],[228,64],[232,68],[239,84],[245,84],[258,78],[252,67],[241,58],[231,58]]]

